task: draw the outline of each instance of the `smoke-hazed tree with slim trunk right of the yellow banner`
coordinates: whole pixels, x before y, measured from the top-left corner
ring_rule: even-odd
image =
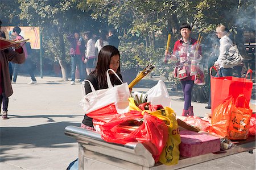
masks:
[[[55,56],[60,64],[63,80],[68,80],[69,57],[67,57],[68,44],[65,42],[65,35],[75,30],[84,31],[92,27],[90,15],[78,10],[77,3],[73,0],[19,0],[19,3],[20,19],[26,19],[31,26],[40,27],[45,52]]]

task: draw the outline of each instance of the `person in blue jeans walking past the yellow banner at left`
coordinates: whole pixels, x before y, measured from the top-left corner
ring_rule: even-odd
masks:
[[[18,26],[13,28],[13,35],[15,36],[15,40],[24,39],[21,35],[19,35],[20,32],[21,32],[21,29]],[[31,80],[32,80],[31,82],[28,82],[28,84],[35,84],[36,83],[36,78],[35,78],[35,74],[34,74],[31,62],[28,59],[28,51],[27,51],[27,48],[26,48],[26,44],[22,43],[21,45],[24,49],[24,53],[25,53],[25,57],[26,57],[26,61],[23,64],[23,66],[27,70],[28,74],[30,74],[30,77],[31,77]],[[13,65],[13,83],[15,84],[16,80],[17,80],[18,73],[19,73],[20,65],[15,64],[15,63],[12,63],[12,65]]]

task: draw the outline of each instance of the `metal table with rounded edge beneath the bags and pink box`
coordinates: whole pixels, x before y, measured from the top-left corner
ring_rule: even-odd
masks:
[[[255,149],[255,137],[236,143],[236,146],[224,152],[210,153],[195,157],[180,157],[176,165],[156,163],[148,150],[139,142],[125,145],[108,143],[101,139],[98,132],[76,126],[67,126],[65,135],[75,138],[79,144],[79,169],[141,169],[164,170],[179,169],[220,157]]]

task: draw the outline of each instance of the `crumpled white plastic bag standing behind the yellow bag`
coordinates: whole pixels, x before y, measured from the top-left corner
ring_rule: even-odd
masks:
[[[163,107],[171,107],[171,97],[166,89],[166,85],[162,80],[158,81],[154,87],[148,90],[147,101],[152,105],[162,105]]]

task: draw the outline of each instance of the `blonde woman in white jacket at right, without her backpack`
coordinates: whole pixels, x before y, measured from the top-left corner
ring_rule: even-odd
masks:
[[[220,39],[220,54],[218,55],[217,61],[214,63],[214,67],[218,69],[218,75],[220,77],[232,76],[233,67],[224,68],[224,60],[226,59],[225,53],[232,47],[232,40],[228,37],[228,28],[224,25],[219,25],[216,28],[216,35]]]

